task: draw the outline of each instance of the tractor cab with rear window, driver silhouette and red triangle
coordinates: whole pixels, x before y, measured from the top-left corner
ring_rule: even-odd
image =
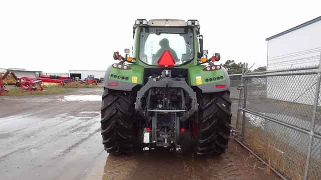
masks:
[[[133,56],[125,49],[130,62],[148,67],[197,65],[208,62],[203,50],[203,35],[198,20],[137,19],[133,25]],[[120,60],[119,52],[114,58]],[[219,60],[219,54],[215,58]],[[202,59],[203,56],[206,56]],[[161,58],[162,57],[162,58]],[[184,67],[183,67],[184,68]]]

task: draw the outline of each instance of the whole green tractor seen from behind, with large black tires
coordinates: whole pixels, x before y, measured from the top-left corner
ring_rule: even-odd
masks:
[[[107,68],[101,134],[109,153],[193,147],[222,154],[231,130],[230,79],[208,58],[198,20],[137,19],[132,56]],[[147,134],[147,135],[146,135]],[[143,142],[143,137],[145,139]],[[147,139],[147,140],[146,140]]]

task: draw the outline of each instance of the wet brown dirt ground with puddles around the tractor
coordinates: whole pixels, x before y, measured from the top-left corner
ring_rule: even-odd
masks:
[[[221,156],[104,151],[101,88],[0,96],[0,179],[279,179],[234,140]],[[238,91],[231,92],[236,114]]]

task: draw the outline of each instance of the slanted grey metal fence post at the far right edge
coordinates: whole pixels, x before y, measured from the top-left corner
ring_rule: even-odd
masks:
[[[317,77],[317,81],[316,81],[316,89],[315,89],[315,96],[314,96],[311,129],[309,134],[308,151],[307,151],[307,157],[305,162],[304,180],[307,180],[308,178],[308,174],[309,174],[308,171],[309,171],[310,160],[311,160],[311,151],[312,151],[312,145],[313,145],[313,133],[314,133],[314,126],[315,126],[315,119],[316,119],[316,109],[317,109],[317,102],[319,97],[320,81],[321,81],[321,51],[320,51],[319,68],[317,69],[316,77]]]

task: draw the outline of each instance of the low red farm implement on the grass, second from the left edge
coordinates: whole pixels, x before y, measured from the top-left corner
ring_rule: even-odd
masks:
[[[43,91],[42,81],[32,77],[19,77],[19,83],[17,84],[24,91]]]

